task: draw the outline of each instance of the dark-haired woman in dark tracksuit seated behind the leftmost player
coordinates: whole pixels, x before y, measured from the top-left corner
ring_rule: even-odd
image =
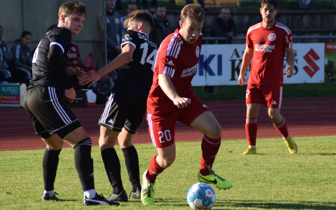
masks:
[[[20,39],[14,41],[12,51],[14,52],[13,68],[9,71],[12,75],[13,82],[25,83],[28,87],[29,80],[32,79],[32,51],[30,42],[32,33],[23,31]]]

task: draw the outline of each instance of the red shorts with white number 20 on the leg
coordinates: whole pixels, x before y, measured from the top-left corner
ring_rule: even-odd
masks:
[[[177,108],[177,106],[176,106]],[[158,116],[147,113],[148,130],[152,142],[157,148],[165,148],[172,145],[175,135],[175,123],[181,123],[190,126],[190,124],[202,113],[210,111],[207,106],[198,98],[192,99],[187,107],[178,109],[170,115]]]

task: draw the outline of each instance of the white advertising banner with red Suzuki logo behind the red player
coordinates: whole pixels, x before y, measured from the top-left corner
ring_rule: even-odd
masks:
[[[192,85],[238,85],[245,46],[245,44],[202,45]],[[284,83],[324,82],[324,43],[297,43],[293,44],[293,49],[295,52],[293,76],[284,77]],[[286,66],[285,60],[284,74]],[[249,73],[250,67],[246,71],[246,79]]]

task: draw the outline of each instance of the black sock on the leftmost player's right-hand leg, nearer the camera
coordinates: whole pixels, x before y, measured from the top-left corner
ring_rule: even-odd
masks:
[[[75,167],[82,184],[83,192],[94,189],[91,146],[91,138],[83,139],[74,146]]]

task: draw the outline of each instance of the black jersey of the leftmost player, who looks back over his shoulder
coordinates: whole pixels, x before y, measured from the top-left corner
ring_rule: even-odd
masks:
[[[66,28],[56,27],[44,35],[33,56],[33,76],[29,88],[52,86],[58,90],[63,90],[72,87],[72,83],[66,74],[70,56],[70,42],[71,32]],[[58,45],[63,52],[57,69],[53,69],[48,60],[49,49],[52,45]]]

